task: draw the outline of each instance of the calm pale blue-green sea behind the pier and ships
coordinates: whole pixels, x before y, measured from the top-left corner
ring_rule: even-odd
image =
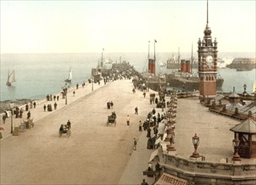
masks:
[[[177,53],[157,53],[157,62],[165,62]],[[47,94],[61,92],[65,86],[69,68],[72,67],[72,83],[88,82],[91,68],[96,67],[101,60],[101,53],[83,54],[1,54],[1,98],[0,100],[15,100],[21,98],[40,99]],[[128,61],[137,71],[147,70],[147,53],[104,53],[104,59],[114,62]],[[195,53],[193,56],[197,56]],[[190,53],[181,53],[181,59],[189,59]],[[235,57],[255,57],[254,53],[219,53],[225,64],[231,63]],[[6,86],[8,70],[15,70],[16,82],[11,87]],[[170,73],[164,67],[156,66],[156,71]],[[195,71],[196,72],[196,71]],[[243,92],[243,84],[247,84],[248,92],[253,92],[253,82],[256,71],[236,71],[228,68],[219,69],[224,84],[223,92]]]

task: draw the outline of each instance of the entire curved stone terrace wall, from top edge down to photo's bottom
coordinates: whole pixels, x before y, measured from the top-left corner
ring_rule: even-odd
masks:
[[[163,157],[163,172],[184,178],[189,184],[256,183],[256,164],[193,161],[168,154]]]

